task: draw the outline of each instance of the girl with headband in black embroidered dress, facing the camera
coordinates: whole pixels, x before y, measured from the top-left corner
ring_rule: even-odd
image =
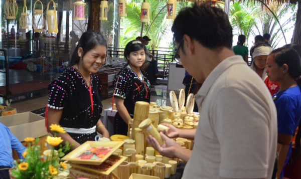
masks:
[[[139,68],[145,61],[145,46],[140,41],[130,41],[124,49],[128,65],[115,76],[113,100],[118,112],[115,115],[115,134],[127,135],[128,122],[133,117],[136,101],[150,101],[150,84],[145,72]]]

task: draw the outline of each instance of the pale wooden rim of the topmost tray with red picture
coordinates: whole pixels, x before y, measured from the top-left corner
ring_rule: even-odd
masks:
[[[66,156],[62,158],[62,160],[69,160],[72,163],[81,163],[81,164],[91,164],[91,165],[100,165],[104,162],[111,154],[117,150],[120,146],[122,146],[124,141],[86,141],[81,144],[79,147],[68,153]],[[85,152],[91,147],[113,147],[111,151],[109,151],[102,159],[100,160],[91,160],[91,159],[78,159],[80,154]]]

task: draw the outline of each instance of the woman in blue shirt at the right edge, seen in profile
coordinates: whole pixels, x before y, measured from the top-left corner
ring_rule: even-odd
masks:
[[[266,73],[270,81],[280,84],[273,100],[278,122],[277,178],[283,178],[292,137],[301,119],[301,58],[298,52],[292,46],[273,50],[267,58]]]

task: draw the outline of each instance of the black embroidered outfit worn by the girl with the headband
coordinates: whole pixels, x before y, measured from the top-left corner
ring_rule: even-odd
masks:
[[[150,101],[149,81],[145,78],[145,72],[140,72],[141,78],[127,66],[120,70],[113,81],[113,87],[115,88],[113,95],[124,99],[123,104],[130,115],[134,113],[136,101]],[[126,135],[127,124],[122,120],[118,112],[115,115],[115,119],[114,133]]]

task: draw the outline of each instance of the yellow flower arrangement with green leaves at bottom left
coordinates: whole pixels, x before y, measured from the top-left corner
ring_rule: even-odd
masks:
[[[65,152],[70,149],[68,142],[63,146],[61,137],[56,137],[58,133],[65,133],[63,127],[59,125],[51,125],[51,130],[54,131],[54,137],[47,136],[46,141],[52,146],[49,155],[43,156],[40,145],[38,145],[39,138],[27,137],[25,141],[28,142],[26,150],[23,152],[19,160],[15,160],[16,166],[12,168],[11,175],[17,179],[23,178],[53,178],[60,171],[67,169],[67,165],[60,162],[60,157],[65,155]],[[54,147],[59,145],[59,149],[55,151]]]

